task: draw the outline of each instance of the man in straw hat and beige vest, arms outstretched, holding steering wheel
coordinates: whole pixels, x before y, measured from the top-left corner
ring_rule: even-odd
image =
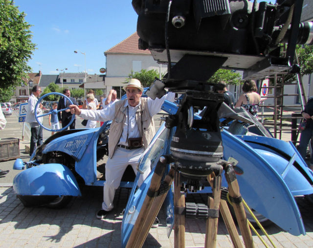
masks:
[[[138,160],[155,135],[153,115],[161,109],[164,100],[174,101],[170,92],[155,100],[141,97],[143,88],[140,81],[131,79],[126,86],[127,99],[110,104],[100,111],[80,110],[71,105],[71,112],[84,119],[112,120],[109,135],[109,159],[106,164],[106,182],[103,189],[102,209],[96,217],[103,219],[113,209],[115,190],[119,187],[123,173],[130,164],[136,173]],[[150,168],[140,175],[139,184],[149,175]]]

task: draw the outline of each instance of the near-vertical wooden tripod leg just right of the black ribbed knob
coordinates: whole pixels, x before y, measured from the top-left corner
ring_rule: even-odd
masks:
[[[215,177],[215,174],[212,173],[207,177],[207,180],[212,187],[213,193],[213,202],[211,199],[209,200],[209,208],[219,211],[221,200],[221,176]],[[206,221],[205,248],[216,247],[218,222],[218,217],[208,217]]]

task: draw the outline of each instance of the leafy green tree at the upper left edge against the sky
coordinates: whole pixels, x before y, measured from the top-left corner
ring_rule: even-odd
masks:
[[[31,68],[27,66],[35,49],[30,24],[13,0],[0,0],[0,88],[22,85]]]

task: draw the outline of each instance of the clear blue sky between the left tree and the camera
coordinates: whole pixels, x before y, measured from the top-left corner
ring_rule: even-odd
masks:
[[[33,72],[59,74],[57,68],[83,72],[85,56],[80,52],[84,52],[87,72],[99,74],[106,66],[104,51],[136,31],[131,0],[15,0],[15,4],[33,25],[37,49],[28,63]]]

